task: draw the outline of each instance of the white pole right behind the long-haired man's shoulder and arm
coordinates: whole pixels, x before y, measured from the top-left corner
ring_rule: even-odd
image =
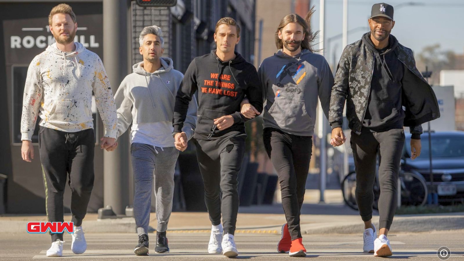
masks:
[[[321,37],[321,43],[319,44],[319,49],[322,50],[322,54],[325,52],[323,51],[324,49],[324,31],[325,31],[325,0],[320,0],[320,5],[319,5],[319,36]],[[327,55],[324,55],[327,56]],[[326,133],[327,133],[327,120],[324,116],[324,112],[322,111],[321,103],[319,102],[318,105],[318,134],[319,138],[321,140],[321,174],[320,174],[320,198],[319,198],[319,203],[324,203],[324,191],[326,187],[326,179],[327,179],[327,140],[326,140]]]

